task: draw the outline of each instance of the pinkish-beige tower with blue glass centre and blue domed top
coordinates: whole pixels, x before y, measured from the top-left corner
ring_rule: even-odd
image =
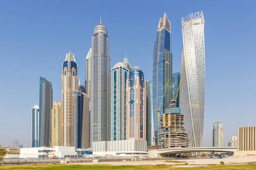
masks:
[[[126,140],[146,140],[146,81],[135,66],[129,73],[126,88]]]

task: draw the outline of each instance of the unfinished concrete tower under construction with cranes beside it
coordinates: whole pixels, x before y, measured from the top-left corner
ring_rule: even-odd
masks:
[[[161,131],[158,138],[159,148],[188,147],[188,133],[184,128],[184,115],[172,100],[170,108],[164,110],[161,117]]]

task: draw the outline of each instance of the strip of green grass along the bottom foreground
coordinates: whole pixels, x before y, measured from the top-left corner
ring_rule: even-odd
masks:
[[[172,167],[172,165],[66,165],[66,164],[44,164],[44,165],[2,165],[0,170],[256,170],[256,164],[242,165],[212,165],[209,167]]]

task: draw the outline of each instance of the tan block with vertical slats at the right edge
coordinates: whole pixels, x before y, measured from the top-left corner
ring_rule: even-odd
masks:
[[[234,155],[256,155],[256,126],[238,128],[238,150]]]

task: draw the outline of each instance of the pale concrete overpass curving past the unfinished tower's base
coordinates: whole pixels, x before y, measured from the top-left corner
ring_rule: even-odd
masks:
[[[148,150],[148,156],[164,157],[165,155],[175,155],[190,152],[234,152],[238,147],[173,147],[168,149]]]

